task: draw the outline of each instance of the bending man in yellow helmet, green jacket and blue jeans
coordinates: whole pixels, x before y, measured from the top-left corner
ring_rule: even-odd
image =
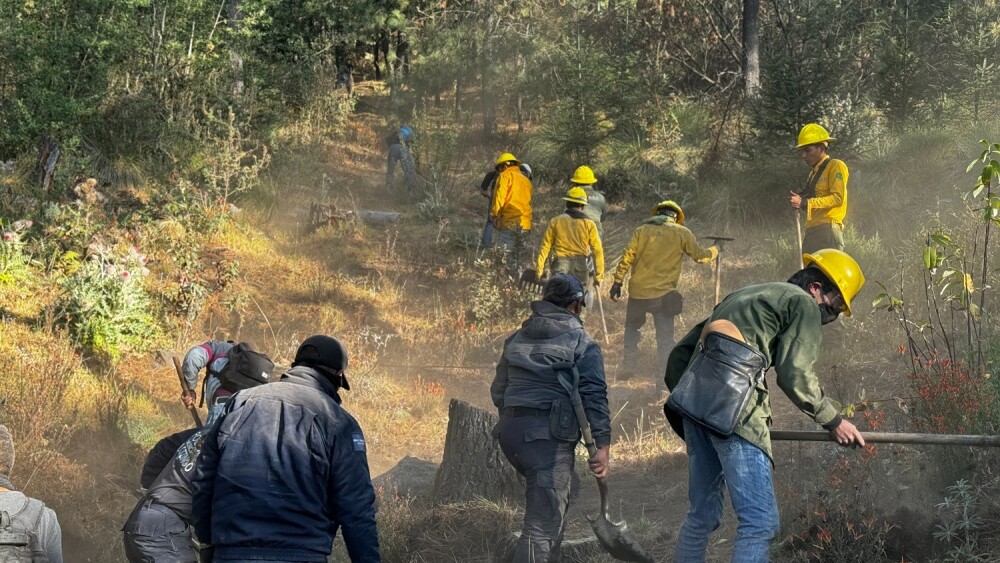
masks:
[[[865,278],[853,258],[835,249],[803,256],[806,267],[787,283],[751,285],[729,294],[682,339],[667,364],[664,377],[672,391],[689,364],[698,377],[709,361],[725,354],[705,336],[719,333],[763,355],[765,369],[774,367],[778,387],[842,446],[863,446],[858,429],[839,415],[839,405],[820,388],[813,364],[819,356],[822,325],[841,312],[850,316],[851,301]],[[717,342],[721,339],[713,339]],[[730,348],[731,349],[731,348]],[[699,355],[706,360],[693,363]],[[725,362],[725,359],[720,360]],[[704,374],[702,374],[704,376]],[[670,425],[687,444],[688,499],[691,506],[677,540],[675,560],[705,561],[708,537],[722,518],[724,488],[728,488],[739,525],[732,561],[768,561],[768,549],[778,533],[780,519],[771,479],[772,456],[768,426],[771,405],[767,383],[761,378],[742,411],[735,432],[721,436],[693,419],[665,409]]]

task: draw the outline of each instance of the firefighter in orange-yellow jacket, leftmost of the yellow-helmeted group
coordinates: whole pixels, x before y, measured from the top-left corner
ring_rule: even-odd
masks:
[[[490,220],[497,244],[508,255],[508,267],[518,267],[517,255],[524,237],[531,232],[531,180],[519,168],[521,162],[509,152],[497,159],[496,184],[490,205]]]

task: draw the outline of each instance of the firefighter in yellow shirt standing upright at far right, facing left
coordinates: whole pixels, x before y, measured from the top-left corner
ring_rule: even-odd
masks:
[[[799,131],[796,146],[811,171],[805,188],[792,192],[789,201],[792,208],[806,214],[806,233],[802,239],[802,252],[806,254],[823,248],[844,250],[848,172],[844,161],[827,154],[830,141],[835,140],[815,123]]]

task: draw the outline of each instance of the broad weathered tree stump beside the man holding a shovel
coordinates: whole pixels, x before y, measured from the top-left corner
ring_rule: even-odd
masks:
[[[448,406],[444,456],[434,478],[435,502],[461,502],[477,497],[498,501],[524,495],[524,479],[514,471],[492,436],[495,414],[465,401]]]

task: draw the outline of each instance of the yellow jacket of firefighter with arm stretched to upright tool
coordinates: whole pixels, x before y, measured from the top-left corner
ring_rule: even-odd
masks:
[[[630,298],[662,297],[677,288],[681,259],[685,254],[699,264],[706,264],[718,256],[719,250],[714,246],[698,246],[694,234],[669,217],[649,217],[632,233],[632,240],[615,270],[615,283],[622,283],[631,268]]]

